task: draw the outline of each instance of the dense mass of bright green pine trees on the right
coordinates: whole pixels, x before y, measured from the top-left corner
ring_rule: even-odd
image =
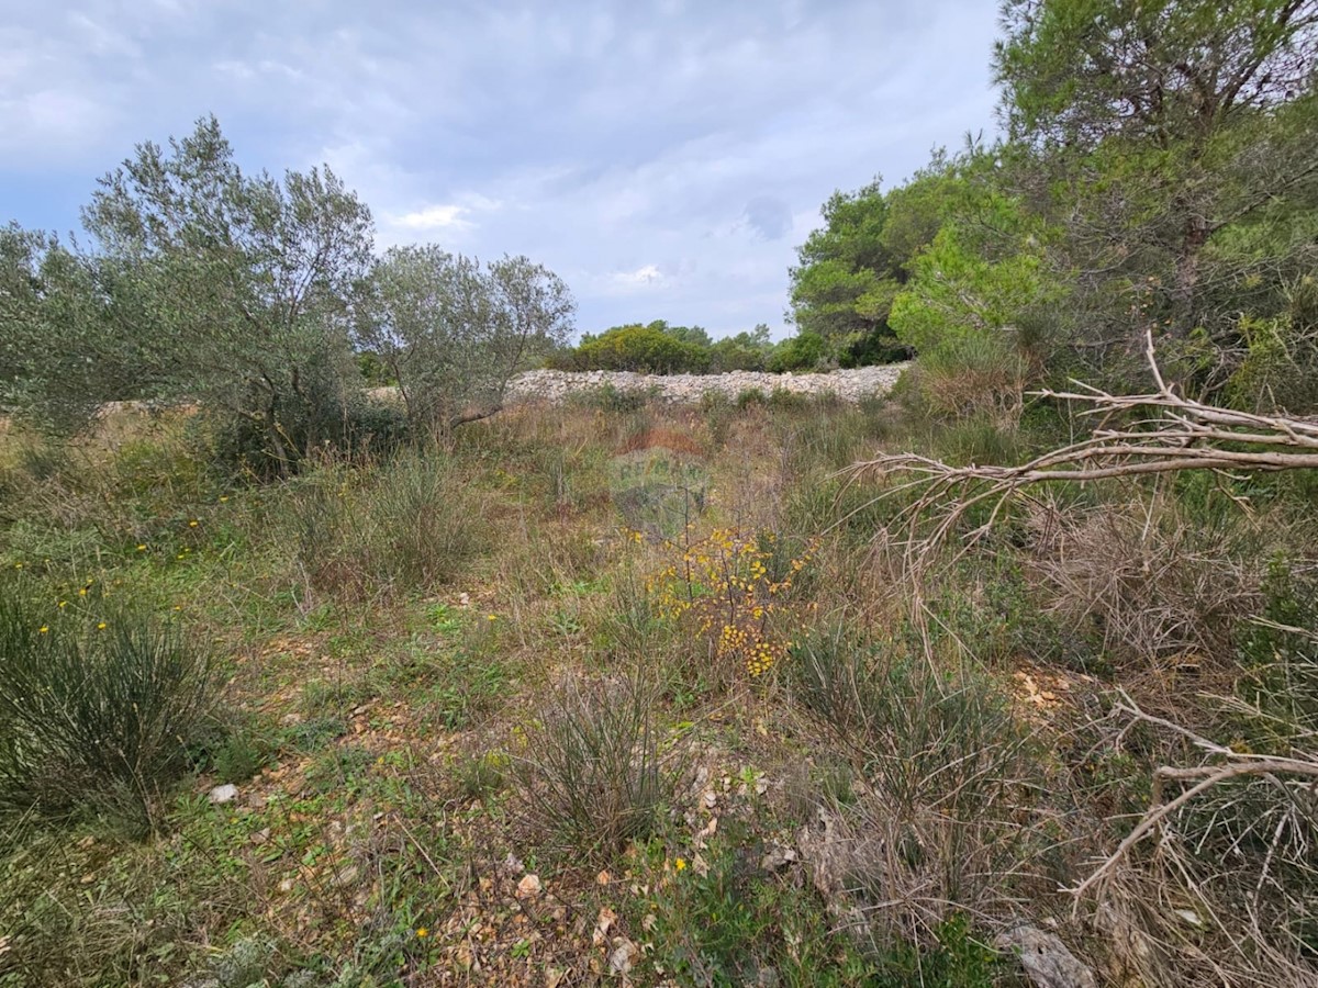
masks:
[[[1151,329],[1203,395],[1265,404],[1318,370],[1318,3],[1007,0],[1002,25],[1006,137],[834,194],[797,325],[988,360],[1010,387],[1137,382]]]

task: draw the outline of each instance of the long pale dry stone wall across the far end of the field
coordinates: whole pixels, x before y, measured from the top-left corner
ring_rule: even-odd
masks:
[[[671,404],[695,404],[706,393],[735,399],[758,389],[764,395],[782,389],[800,395],[836,394],[845,402],[884,395],[905,370],[905,364],[834,370],[828,374],[763,374],[733,370],[726,374],[633,374],[626,370],[530,370],[509,385],[507,403],[561,402],[573,394],[612,385],[619,391],[642,391]]]

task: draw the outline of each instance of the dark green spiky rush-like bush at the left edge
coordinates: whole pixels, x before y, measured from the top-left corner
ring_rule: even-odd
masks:
[[[90,622],[0,585],[0,809],[109,811],[146,833],[219,684],[177,627],[125,607]]]

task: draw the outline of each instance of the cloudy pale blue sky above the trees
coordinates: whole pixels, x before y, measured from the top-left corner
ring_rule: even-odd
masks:
[[[834,190],[994,133],[998,0],[0,0],[0,223],[79,225],[214,113],[244,169],[327,163],[376,246],[526,254],[577,328],[786,317]]]

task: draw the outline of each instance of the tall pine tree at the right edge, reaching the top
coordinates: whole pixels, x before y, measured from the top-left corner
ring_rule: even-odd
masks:
[[[1152,327],[1220,385],[1242,312],[1311,270],[1318,3],[1008,0],[1003,26],[1014,184],[1064,231],[1078,352]]]

